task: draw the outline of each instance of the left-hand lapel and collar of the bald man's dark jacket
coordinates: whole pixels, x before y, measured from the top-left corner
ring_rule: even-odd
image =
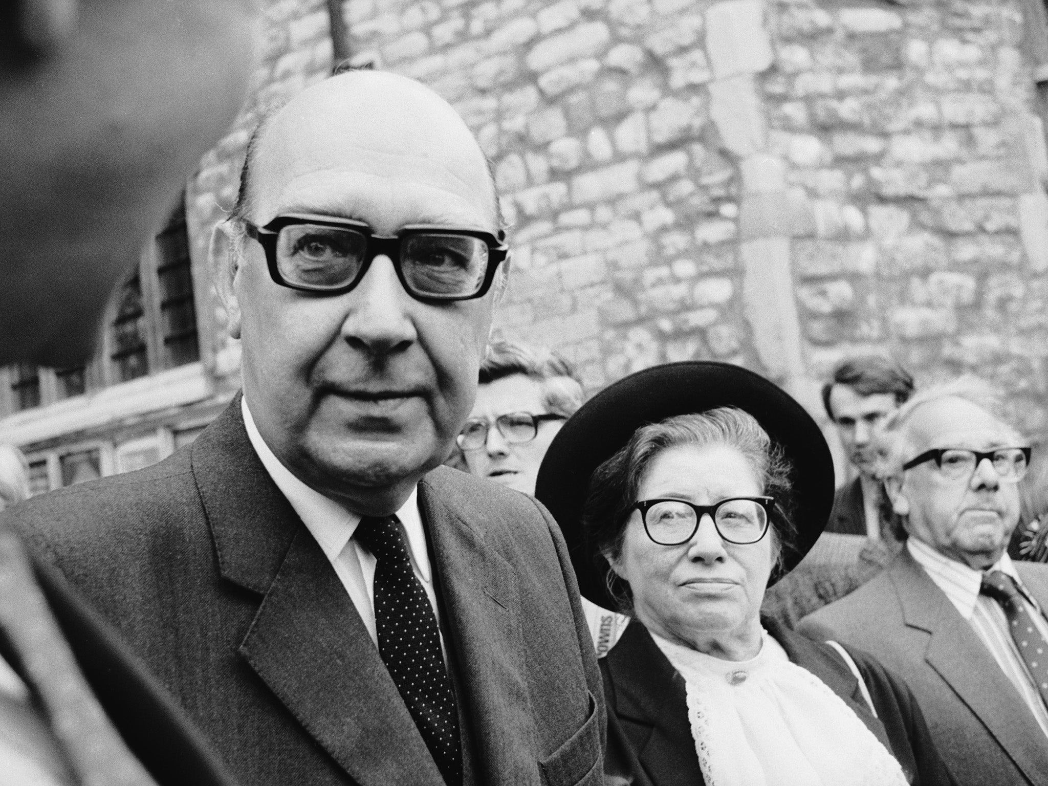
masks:
[[[241,655],[361,786],[441,784],[363,620],[266,473],[236,403],[197,440],[193,472],[222,577],[262,595]]]

